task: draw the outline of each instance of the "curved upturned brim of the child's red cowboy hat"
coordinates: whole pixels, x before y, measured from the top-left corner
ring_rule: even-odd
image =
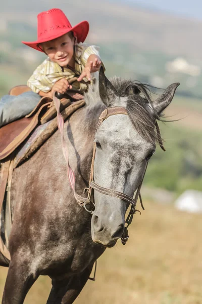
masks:
[[[78,43],[84,42],[87,37],[88,31],[89,31],[89,23],[87,21],[82,21],[82,22],[78,23],[77,25],[73,26],[72,28],[70,28],[70,29],[68,28],[68,30],[67,29],[61,30],[57,34],[48,36],[45,39],[42,39],[42,40],[38,39],[37,41],[33,41],[33,42],[22,41],[22,43],[37,51],[43,52],[43,50],[40,49],[38,46],[40,43],[54,40],[58,37],[61,37],[62,35],[65,35],[66,33],[70,32],[70,31],[73,31],[76,34]]]

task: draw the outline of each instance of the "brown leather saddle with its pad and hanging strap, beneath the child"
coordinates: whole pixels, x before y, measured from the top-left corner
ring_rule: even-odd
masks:
[[[29,90],[27,86],[17,86],[9,94],[19,95]],[[60,111],[64,120],[85,104],[83,96],[78,92],[68,91],[57,97],[61,99]],[[0,128],[0,253],[7,263],[10,261],[8,240],[12,225],[12,172],[57,130],[56,116],[53,99],[42,97],[29,115]]]

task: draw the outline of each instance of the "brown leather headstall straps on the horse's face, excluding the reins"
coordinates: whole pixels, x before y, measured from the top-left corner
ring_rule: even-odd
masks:
[[[110,117],[112,115],[118,115],[118,114],[128,115],[128,112],[127,112],[126,108],[124,108],[124,107],[110,107],[110,108],[105,109],[101,113],[101,115],[99,116],[99,122],[97,124],[96,130],[95,130],[95,134],[96,134],[99,126],[103,123],[104,120],[106,120],[108,117]],[[94,134],[94,137],[95,137],[95,134]],[[125,226],[124,233],[123,233],[123,235],[121,237],[122,244],[125,245],[126,242],[127,242],[127,240],[128,240],[128,238],[129,238],[127,227],[131,224],[132,219],[133,219],[133,215],[135,214],[135,212],[136,211],[140,212],[139,210],[135,209],[138,197],[140,198],[141,206],[144,209],[144,207],[142,205],[141,195],[140,195],[140,188],[141,188],[144,176],[143,176],[143,178],[142,178],[139,186],[137,187],[136,194],[133,196],[134,199],[132,197],[128,196],[127,194],[121,193],[119,191],[115,191],[113,189],[101,187],[101,186],[99,186],[98,184],[96,184],[94,182],[94,178],[93,178],[95,153],[96,153],[96,143],[94,142],[93,143],[92,162],[91,162],[91,168],[90,168],[89,187],[87,188],[88,200],[90,201],[91,196],[92,196],[92,189],[94,189],[95,191],[97,191],[99,193],[102,193],[102,194],[105,194],[105,195],[109,195],[109,196],[113,196],[113,197],[117,197],[117,198],[119,198],[121,200],[124,200],[126,203],[131,204],[131,209],[130,209],[130,212],[129,212],[129,214],[127,216],[127,219],[126,219],[126,224],[127,225]],[[146,172],[146,169],[145,169],[145,172]],[[145,174],[145,172],[144,172],[144,174]],[[86,211],[88,211],[91,214],[93,214],[93,211],[89,211],[86,208],[86,202],[82,202],[81,201],[80,205],[83,206],[83,207],[85,207]]]

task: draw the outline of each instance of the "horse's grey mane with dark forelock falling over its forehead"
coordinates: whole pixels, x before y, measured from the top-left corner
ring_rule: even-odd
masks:
[[[147,141],[155,143],[158,141],[158,133],[155,128],[155,119],[152,111],[148,106],[153,108],[153,100],[151,95],[155,87],[142,84],[137,81],[125,80],[119,77],[113,77],[110,82],[118,92],[119,96],[127,97],[126,109],[132,125],[137,132]],[[85,94],[85,101],[88,109],[96,110],[96,108],[104,107],[99,97],[99,88],[95,84],[90,86]],[[161,117],[158,116],[158,120]]]

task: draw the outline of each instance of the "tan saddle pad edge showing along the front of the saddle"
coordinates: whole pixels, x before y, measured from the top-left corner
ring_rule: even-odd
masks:
[[[63,119],[66,120],[74,111],[85,105],[84,99],[72,102],[62,112]],[[28,140],[18,151],[14,159],[14,168],[20,165],[25,159],[34,153],[56,130],[58,129],[57,117],[45,124],[38,126],[31,134]]]

